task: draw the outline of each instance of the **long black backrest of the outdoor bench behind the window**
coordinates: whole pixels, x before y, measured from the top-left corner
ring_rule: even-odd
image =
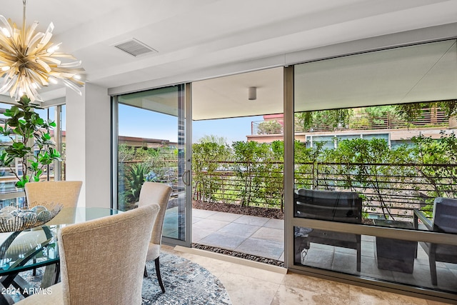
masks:
[[[294,210],[297,217],[361,223],[362,199],[353,191],[299,189]]]

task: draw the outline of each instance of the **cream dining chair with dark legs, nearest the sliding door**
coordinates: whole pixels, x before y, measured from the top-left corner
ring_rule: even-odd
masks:
[[[158,182],[144,182],[143,186],[141,186],[138,202],[138,206],[145,206],[154,203],[159,204],[160,206],[159,215],[157,215],[154,223],[154,229],[152,230],[146,261],[152,261],[154,259],[154,263],[156,264],[157,280],[159,281],[162,292],[165,292],[165,287],[160,274],[159,256],[160,246],[162,243],[162,229],[164,226],[166,206],[169,203],[171,191],[171,186],[167,184],[161,184]],[[148,276],[146,266],[144,266],[144,276]]]

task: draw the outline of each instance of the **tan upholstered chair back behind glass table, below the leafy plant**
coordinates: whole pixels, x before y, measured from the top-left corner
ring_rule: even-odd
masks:
[[[59,203],[66,207],[75,207],[78,203],[82,181],[40,181],[26,183],[28,204]]]

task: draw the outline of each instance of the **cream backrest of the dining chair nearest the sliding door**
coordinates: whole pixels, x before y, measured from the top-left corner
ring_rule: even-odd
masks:
[[[161,244],[166,206],[169,203],[171,191],[171,186],[158,182],[146,181],[141,186],[138,206],[148,204],[159,204],[160,206],[159,215],[157,215],[151,235],[151,243],[153,244]]]

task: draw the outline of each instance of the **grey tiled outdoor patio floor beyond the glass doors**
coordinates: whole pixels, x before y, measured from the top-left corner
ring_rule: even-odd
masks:
[[[283,220],[229,214],[218,211],[192,210],[192,242],[219,247],[268,259],[283,261]],[[303,252],[304,254],[304,252]],[[356,250],[324,244],[313,244],[303,255],[303,264],[373,279],[399,281],[411,285],[434,287],[431,284],[428,256],[418,246],[413,273],[378,269],[376,238],[361,236],[361,271],[356,271]],[[438,286],[457,292],[457,264],[437,262]]]

